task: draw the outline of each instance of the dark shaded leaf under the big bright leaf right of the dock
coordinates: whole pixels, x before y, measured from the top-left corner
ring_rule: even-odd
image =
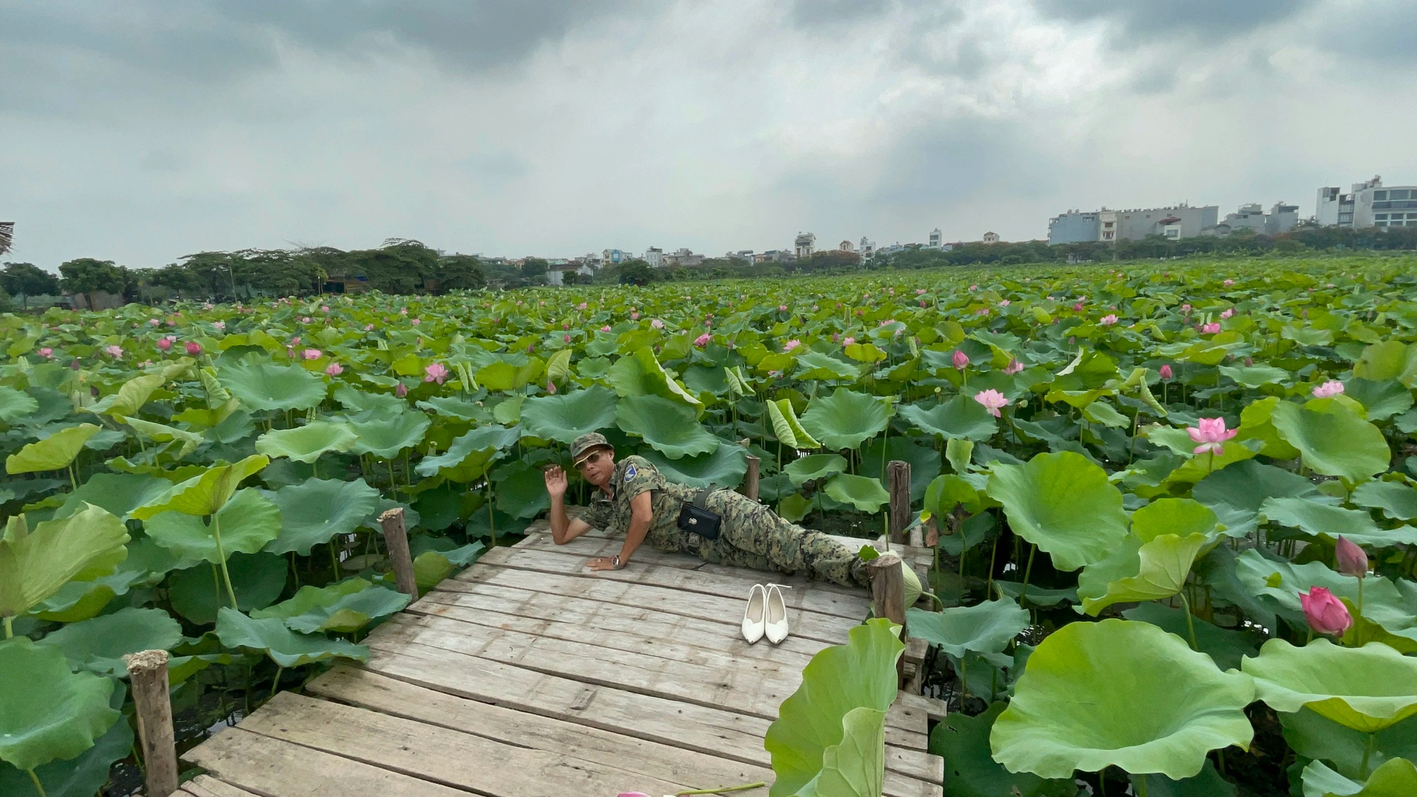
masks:
[[[1000,701],[978,716],[954,712],[930,732],[930,752],[945,760],[945,797],[1074,797],[1071,779],[1010,773],[993,760],[989,730],[1005,708]]]

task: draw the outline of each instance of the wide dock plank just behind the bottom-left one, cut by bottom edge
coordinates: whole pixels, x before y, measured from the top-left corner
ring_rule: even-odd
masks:
[[[689,788],[615,766],[295,692],[271,698],[241,720],[241,728],[490,797],[618,794],[632,788],[662,794]],[[469,766],[473,762],[485,766]]]

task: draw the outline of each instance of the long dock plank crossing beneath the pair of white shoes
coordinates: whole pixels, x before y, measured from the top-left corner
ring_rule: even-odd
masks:
[[[497,549],[497,552],[502,550],[507,549]],[[485,557],[497,552],[489,552]],[[554,553],[541,556],[551,559],[568,559]],[[570,576],[551,572],[537,572],[538,574],[536,577],[529,577],[527,573],[530,573],[530,570],[495,567],[479,562],[463,570],[456,579],[445,580],[439,584],[439,589],[445,591],[461,590],[461,584],[466,583],[496,584],[503,587],[536,590],[554,596],[571,596],[605,603],[619,603],[623,606],[666,611],[684,617],[697,617],[700,620],[716,620],[720,623],[741,623],[743,606],[747,598],[745,594],[744,597],[728,598],[657,584],[636,584],[618,579]],[[625,570],[606,573],[625,573]],[[836,645],[846,640],[847,632],[853,627],[859,625],[860,620],[789,608],[788,623],[792,625],[792,632],[796,635]]]

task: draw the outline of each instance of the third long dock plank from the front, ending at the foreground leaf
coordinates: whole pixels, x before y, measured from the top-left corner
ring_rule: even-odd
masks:
[[[761,766],[458,698],[367,669],[336,667],[312,681],[307,689],[388,715],[609,764],[691,788],[772,781],[772,770]]]

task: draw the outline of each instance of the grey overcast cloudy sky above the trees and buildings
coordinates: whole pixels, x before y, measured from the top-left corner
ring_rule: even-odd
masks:
[[[0,0],[13,260],[1044,237],[1417,183],[1410,0]]]

